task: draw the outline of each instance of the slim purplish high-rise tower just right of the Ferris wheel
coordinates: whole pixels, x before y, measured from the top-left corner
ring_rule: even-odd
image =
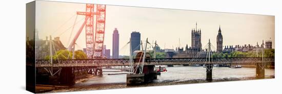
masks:
[[[113,49],[112,49],[112,58],[118,58],[119,55],[119,34],[118,30],[115,28],[113,32]]]

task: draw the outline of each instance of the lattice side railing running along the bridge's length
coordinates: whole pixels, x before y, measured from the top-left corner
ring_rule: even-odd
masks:
[[[135,59],[133,61],[136,61]],[[274,62],[273,57],[264,58],[264,62]],[[208,62],[207,58],[151,58],[146,59],[146,63],[158,62],[187,62],[187,63],[205,63]],[[211,63],[231,63],[231,62],[263,62],[262,58],[257,57],[238,57],[238,58],[212,58]],[[50,60],[36,60],[38,64],[51,64]],[[53,64],[96,64],[96,65],[112,65],[129,63],[129,59],[55,59]],[[134,64],[136,62],[133,62]]]

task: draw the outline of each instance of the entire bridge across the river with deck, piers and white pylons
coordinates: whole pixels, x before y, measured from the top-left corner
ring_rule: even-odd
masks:
[[[148,41],[146,41],[148,42]],[[208,43],[208,51],[206,58],[148,58],[146,49],[141,57],[133,59],[50,59],[50,60],[35,60],[35,67],[39,70],[46,70],[51,77],[59,76],[63,78],[64,83],[74,84],[75,72],[87,71],[89,74],[102,75],[103,66],[129,66],[131,74],[143,74],[144,66],[147,68],[155,65],[189,65],[201,64],[205,65],[207,69],[207,81],[212,81],[212,68],[214,64],[227,65],[255,65],[256,77],[265,78],[265,67],[268,63],[274,64],[274,57],[231,57],[231,58],[212,58],[211,57],[211,43]],[[146,47],[147,48],[147,43]],[[131,49],[131,48],[130,48]],[[136,56],[137,57],[137,56]],[[145,58],[146,57],[146,58]],[[141,60],[143,59],[143,60]],[[142,61],[142,62],[140,62]],[[141,64],[140,64],[141,63]],[[137,68],[136,68],[137,67]],[[140,70],[137,70],[140,69]],[[150,72],[154,68],[147,69]],[[72,78],[71,80],[69,80]]]

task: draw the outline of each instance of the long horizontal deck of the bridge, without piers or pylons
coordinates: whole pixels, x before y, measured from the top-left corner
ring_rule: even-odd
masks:
[[[135,61],[135,59],[133,60]],[[264,63],[273,63],[275,58],[264,58]],[[138,62],[133,62],[138,65]],[[146,59],[144,65],[182,65],[182,64],[207,64],[207,58],[160,58]],[[262,58],[212,58],[212,64],[254,64],[263,63]],[[140,65],[141,63],[139,63]],[[127,66],[129,59],[65,59],[36,60],[36,67],[90,67],[90,66]]]

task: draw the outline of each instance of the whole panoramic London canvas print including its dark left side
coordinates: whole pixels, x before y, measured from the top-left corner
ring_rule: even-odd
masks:
[[[275,79],[271,15],[33,1],[26,24],[34,93]]]

